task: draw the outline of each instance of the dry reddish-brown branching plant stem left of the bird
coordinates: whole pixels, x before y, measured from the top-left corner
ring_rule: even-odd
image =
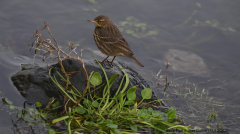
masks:
[[[40,33],[41,30],[46,30],[48,32],[48,34],[51,35],[51,38],[54,40],[54,43],[52,43],[50,39],[44,39],[42,37],[42,34]],[[37,30],[35,32],[33,32],[32,38],[36,38],[36,39],[32,44],[28,44],[28,46],[30,46],[30,50],[35,49],[34,59],[37,54],[37,51],[40,51],[40,54],[43,57],[42,60],[45,61],[46,63],[47,63],[47,58],[49,58],[49,57],[50,57],[50,59],[52,59],[52,61],[55,59],[58,59],[58,63],[61,66],[61,70],[67,79],[67,83],[66,83],[67,88],[68,88],[68,84],[70,83],[69,75],[66,73],[66,71],[62,65],[62,61],[66,58],[74,59],[74,60],[80,61],[82,63],[83,71],[86,76],[86,88],[89,87],[89,82],[88,82],[89,76],[88,76],[87,70],[85,68],[84,61],[82,59],[83,49],[81,49],[81,52],[79,53],[81,55],[81,58],[80,58],[79,54],[76,52],[76,47],[74,47],[74,43],[70,42],[67,45],[70,52],[69,53],[64,52],[58,45],[56,38],[52,35],[47,22],[44,22],[43,28],[39,29],[39,27],[38,27]],[[54,53],[56,53],[56,55],[54,55]],[[76,54],[77,58],[70,56],[70,54],[72,54],[72,53]],[[33,60],[33,62],[34,62],[34,60]],[[48,66],[48,63],[47,63],[47,66]]]

